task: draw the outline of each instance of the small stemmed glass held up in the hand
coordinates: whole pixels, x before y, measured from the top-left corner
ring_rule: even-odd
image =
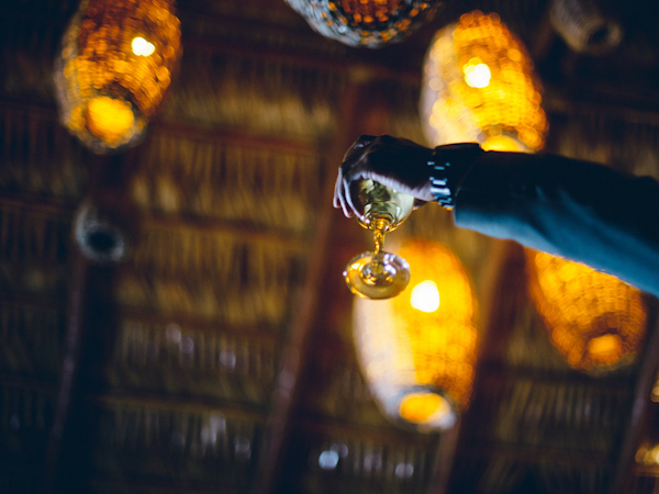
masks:
[[[356,218],[373,232],[375,249],[354,257],[343,274],[353,293],[365,299],[390,299],[407,287],[410,266],[402,257],[382,250],[384,233],[394,231],[410,216],[414,197],[373,180],[361,180],[356,188]]]

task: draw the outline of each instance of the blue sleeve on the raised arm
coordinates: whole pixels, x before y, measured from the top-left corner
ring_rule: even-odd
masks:
[[[614,274],[659,296],[659,183],[552,155],[489,151],[456,197],[455,221]]]

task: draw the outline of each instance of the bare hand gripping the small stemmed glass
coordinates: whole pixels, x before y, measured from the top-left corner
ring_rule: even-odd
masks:
[[[373,180],[398,192],[413,195],[416,206],[434,199],[431,192],[431,168],[427,162],[433,149],[412,141],[382,135],[362,135],[344,156],[334,186],[334,207],[343,209],[347,217],[358,209],[353,202],[350,184]]]

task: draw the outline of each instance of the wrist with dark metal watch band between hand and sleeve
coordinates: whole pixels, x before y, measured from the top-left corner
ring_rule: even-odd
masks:
[[[427,161],[433,200],[453,210],[459,186],[481,153],[477,143],[437,146]]]

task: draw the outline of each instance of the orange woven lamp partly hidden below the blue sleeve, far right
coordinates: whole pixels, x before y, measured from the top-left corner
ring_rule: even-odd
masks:
[[[570,367],[601,373],[634,360],[647,322],[637,289],[545,252],[528,250],[527,266],[532,297]]]

